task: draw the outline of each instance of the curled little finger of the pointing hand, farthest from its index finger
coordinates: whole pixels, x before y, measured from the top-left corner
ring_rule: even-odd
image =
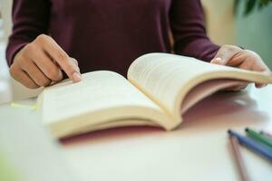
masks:
[[[11,75],[16,80],[22,83],[25,87],[30,89],[36,89],[40,86],[36,84],[29,75],[23,71],[22,69],[17,68],[16,66],[12,66],[11,69]]]

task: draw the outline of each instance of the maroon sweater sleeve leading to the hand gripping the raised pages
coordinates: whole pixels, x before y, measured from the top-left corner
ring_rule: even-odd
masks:
[[[173,0],[170,25],[175,53],[209,62],[218,52],[219,46],[207,36],[199,0]]]

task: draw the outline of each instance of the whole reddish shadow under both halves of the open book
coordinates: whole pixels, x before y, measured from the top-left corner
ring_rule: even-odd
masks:
[[[61,140],[63,146],[78,144],[102,143],[131,138],[148,137],[149,135],[169,135],[180,131],[198,134],[203,131],[216,131],[233,127],[247,127],[256,121],[266,121],[265,112],[257,110],[257,102],[252,100],[246,90],[239,92],[218,92],[202,100],[191,108],[184,116],[184,122],[174,131],[166,132],[152,127],[126,127],[106,129],[86,133],[73,138]],[[201,130],[201,131],[199,131]]]

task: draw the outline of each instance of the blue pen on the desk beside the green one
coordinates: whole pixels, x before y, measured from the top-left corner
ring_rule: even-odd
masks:
[[[271,148],[268,148],[265,145],[257,143],[257,141],[253,140],[252,138],[243,137],[233,130],[228,130],[228,134],[230,134],[230,136],[232,136],[232,137],[237,138],[238,142],[240,144],[245,145],[247,148],[259,153],[263,157],[267,157],[267,159],[272,161],[272,149]]]

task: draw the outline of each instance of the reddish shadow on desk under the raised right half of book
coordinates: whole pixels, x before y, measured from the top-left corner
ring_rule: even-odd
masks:
[[[268,116],[258,110],[257,101],[243,90],[218,92],[200,101],[183,115],[183,119],[180,129],[230,129],[267,121]]]

